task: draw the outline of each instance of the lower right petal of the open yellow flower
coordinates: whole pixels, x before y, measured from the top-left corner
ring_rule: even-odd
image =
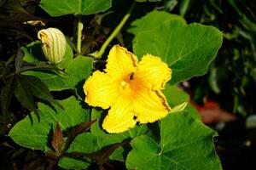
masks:
[[[144,88],[136,94],[134,111],[135,116],[137,116],[137,122],[155,122],[167,116],[169,111],[171,111],[165,95],[160,91],[152,91]]]

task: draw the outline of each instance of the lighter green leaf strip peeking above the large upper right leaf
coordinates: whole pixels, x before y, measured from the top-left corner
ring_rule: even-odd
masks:
[[[154,10],[143,16],[143,18],[133,21],[127,31],[137,35],[140,32],[150,31],[154,28],[157,28],[170,20],[180,20],[183,23],[186,23],[183,17],[177,14],[169,14],[164,11]]]

